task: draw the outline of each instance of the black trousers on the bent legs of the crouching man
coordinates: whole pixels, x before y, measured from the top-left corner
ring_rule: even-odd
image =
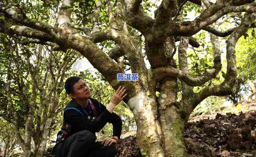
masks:
[[[88,130],[79,131],[57,143],[52,153],[56,157],[114,157],[117,155],[115,145],[103,146],[95,140],[94,133]]]

